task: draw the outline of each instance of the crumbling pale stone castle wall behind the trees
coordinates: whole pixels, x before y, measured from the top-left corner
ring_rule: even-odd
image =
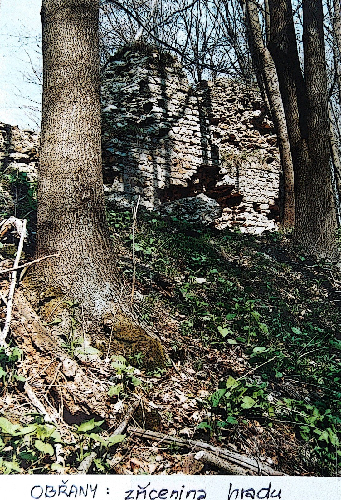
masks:
[[[109,203],[146,208],[205,193],[218,228],[276,229],[279,151],[257,91],[224,78],[188,84],[179,62],[125,49],[102,75],[103,173]],[[39,135],[0,123],[6,171],[36,177]],[[7,197],[8,193],[0,193]]]

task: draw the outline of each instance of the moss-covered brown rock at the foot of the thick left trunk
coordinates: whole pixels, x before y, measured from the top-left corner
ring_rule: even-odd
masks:
[[[101,352],[106,352],[108,342],[109,339],[106,337],[104,342],[103,340],[97,342],[96,347]],[[143,354],[142,368],[153,371],[165,367],[165,355],[160,340],[134,323],[129,316],[123,313],[117,314],[112,328],[109,356],[117,354],[125,357],[134,356],[140,352]]]

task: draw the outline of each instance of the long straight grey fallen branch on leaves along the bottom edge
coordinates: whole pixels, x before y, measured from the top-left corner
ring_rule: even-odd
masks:
[[[213,446],[212,444],[194,441],[192,439],[183,439],[181,437],[173,437],[168,436],[166,434],[161,434],[160,432],[153,432],[152,430],[143,430],[138,427],[129,427],[130,432],[133,432],[134,435],[138,437],[143,437],[144,439],[150,439],[151,441],[160,441],[167,444],[178,444],[179,446],[186,446],[187,448],[192,448],[197,451],[204,450],[213,452],[217,457],[223,458],[232,462],[240,467],[244,467],[245,469],[251,470],[253,474],[262,475],[288,475],[279,470],[275,470],[269,465],[262,463],[260,465],[255,458],[249,458],[246,455],[242,455],[240,453],[235,453],[234,451],[230,451],[228,449],[218,448],[217,446]]]

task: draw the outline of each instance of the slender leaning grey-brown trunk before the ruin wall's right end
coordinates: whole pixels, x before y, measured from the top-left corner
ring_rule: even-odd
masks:
[[[268,48],[264,46],[257,5],[254,0],[246,0],[246,7],[250,23],[250,37],[261,63],[281,155],[283,182],[283,199],[280,200],[281,225],[285,230],[291,230],[295,226],[294,167],[277,71]]]

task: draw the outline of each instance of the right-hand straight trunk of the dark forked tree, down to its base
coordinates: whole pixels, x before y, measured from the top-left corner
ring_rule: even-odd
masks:
[[[335,258],[336,210],[330,168],[330,126],[322,0],[303,4],[303,45],[310,161],[297,176],[297,236],[319,257]]]

